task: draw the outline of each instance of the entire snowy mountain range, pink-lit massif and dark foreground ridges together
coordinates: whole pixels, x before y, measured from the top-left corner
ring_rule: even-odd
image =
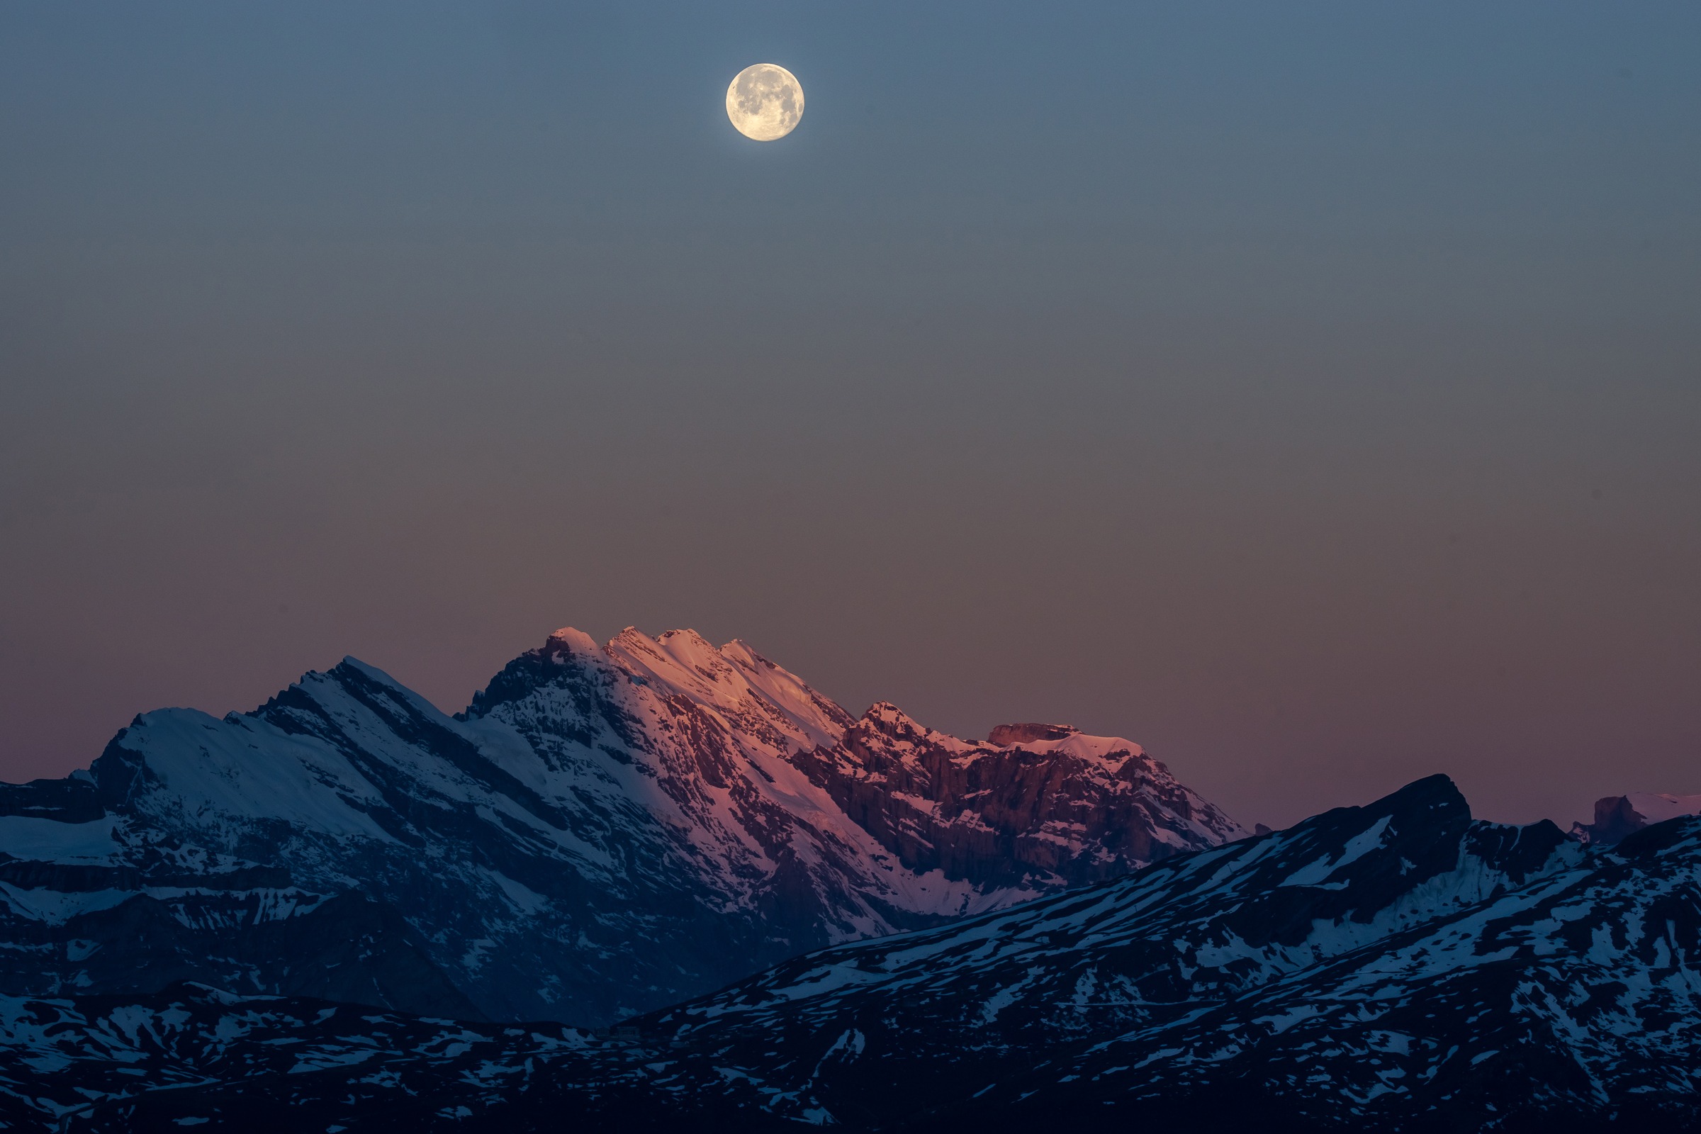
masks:
[[[0,787],[0,1129],[1701,1129],[1701,818],[1247,833],[1138,745],[558,631]]]

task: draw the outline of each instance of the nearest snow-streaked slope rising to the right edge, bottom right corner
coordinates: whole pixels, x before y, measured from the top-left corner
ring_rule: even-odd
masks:
[[[1679,818],[1206,1013],[1072,1052],[973,1110],[1002,1115],[990,1129],[1106,1103],[1129,1122],[1226,1085],[1310,1129],[1696,1129],[1698,959],[1701,821]]]

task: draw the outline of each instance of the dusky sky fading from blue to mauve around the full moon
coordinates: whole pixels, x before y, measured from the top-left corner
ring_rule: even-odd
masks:
[[[631,624],[1247,825],[1701,792],[1698,58],[1689,2],[10,0],[0,777]]]

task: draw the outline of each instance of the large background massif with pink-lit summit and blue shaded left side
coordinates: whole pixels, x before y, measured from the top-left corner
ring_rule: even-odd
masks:
[[[563,629],[454,717],[349,658],[0,787],[0,993],[595,1025],[1240,835],[1126,740],[966,741],[738,641]]]

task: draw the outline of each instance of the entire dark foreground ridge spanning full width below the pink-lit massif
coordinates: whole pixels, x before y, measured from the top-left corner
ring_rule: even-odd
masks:
[[[1431,777],[794,957],[612,1037],[199,988],[14,1000],[0,1078],[31,1097],[14,1086],[0,1117],[247,1131],[287,1105],[299,1129],[349,1134],[1665,1134],[1701,1117],[1698,955],[1701,819],[1584,845],[1551,823],[1473,821]]]

